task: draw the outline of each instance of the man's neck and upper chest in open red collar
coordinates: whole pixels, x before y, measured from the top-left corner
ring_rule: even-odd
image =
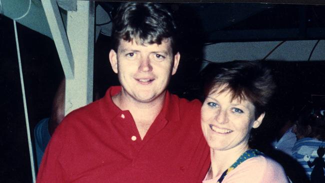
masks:
[[[165,92],[149,102],[140,102],[121,92],[112,96],[112,100],[121,110],[128,110],[135,122],[137,130],[143,139],[152,122],[162,109]]]

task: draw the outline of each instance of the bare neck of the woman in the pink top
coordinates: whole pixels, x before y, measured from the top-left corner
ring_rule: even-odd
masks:
[[[217,175],[223,173],[247,149],[249,149],[248,144],[238,145],[227,150],[214,150],[210,148],[211,168],[207,175],[208,179],[215,178]]]

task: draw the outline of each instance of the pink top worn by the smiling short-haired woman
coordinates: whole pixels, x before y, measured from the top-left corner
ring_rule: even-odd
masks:
[[[222,174],[222,173],[221,173]],[[203,183],[216,183],[221,174],[216,178],[206,180],[206,176]],[[276,161],[258,155],[251,157],[236,168],[231,170],[223,179],[222,183],[282,183],[288,182],[288,179],[284,173],[282,166]]]

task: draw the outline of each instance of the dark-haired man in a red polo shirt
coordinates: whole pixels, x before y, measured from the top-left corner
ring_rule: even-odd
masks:
[[[63,119],[37,182],[201,182],[209,166],[201,104],[166,91],[180,59],[175,31],[161,4],[119,7],[109,61],[121,86]]]

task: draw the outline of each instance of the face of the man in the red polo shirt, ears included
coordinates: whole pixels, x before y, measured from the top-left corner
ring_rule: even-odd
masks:
[[[169,39],[161,44],[137,44],[120,40],[117,53],[109,52],[112,69],[118,74],[122,96],[139,102],[163,97],[169,78],[177,70],[179,53],[172,54]]]

